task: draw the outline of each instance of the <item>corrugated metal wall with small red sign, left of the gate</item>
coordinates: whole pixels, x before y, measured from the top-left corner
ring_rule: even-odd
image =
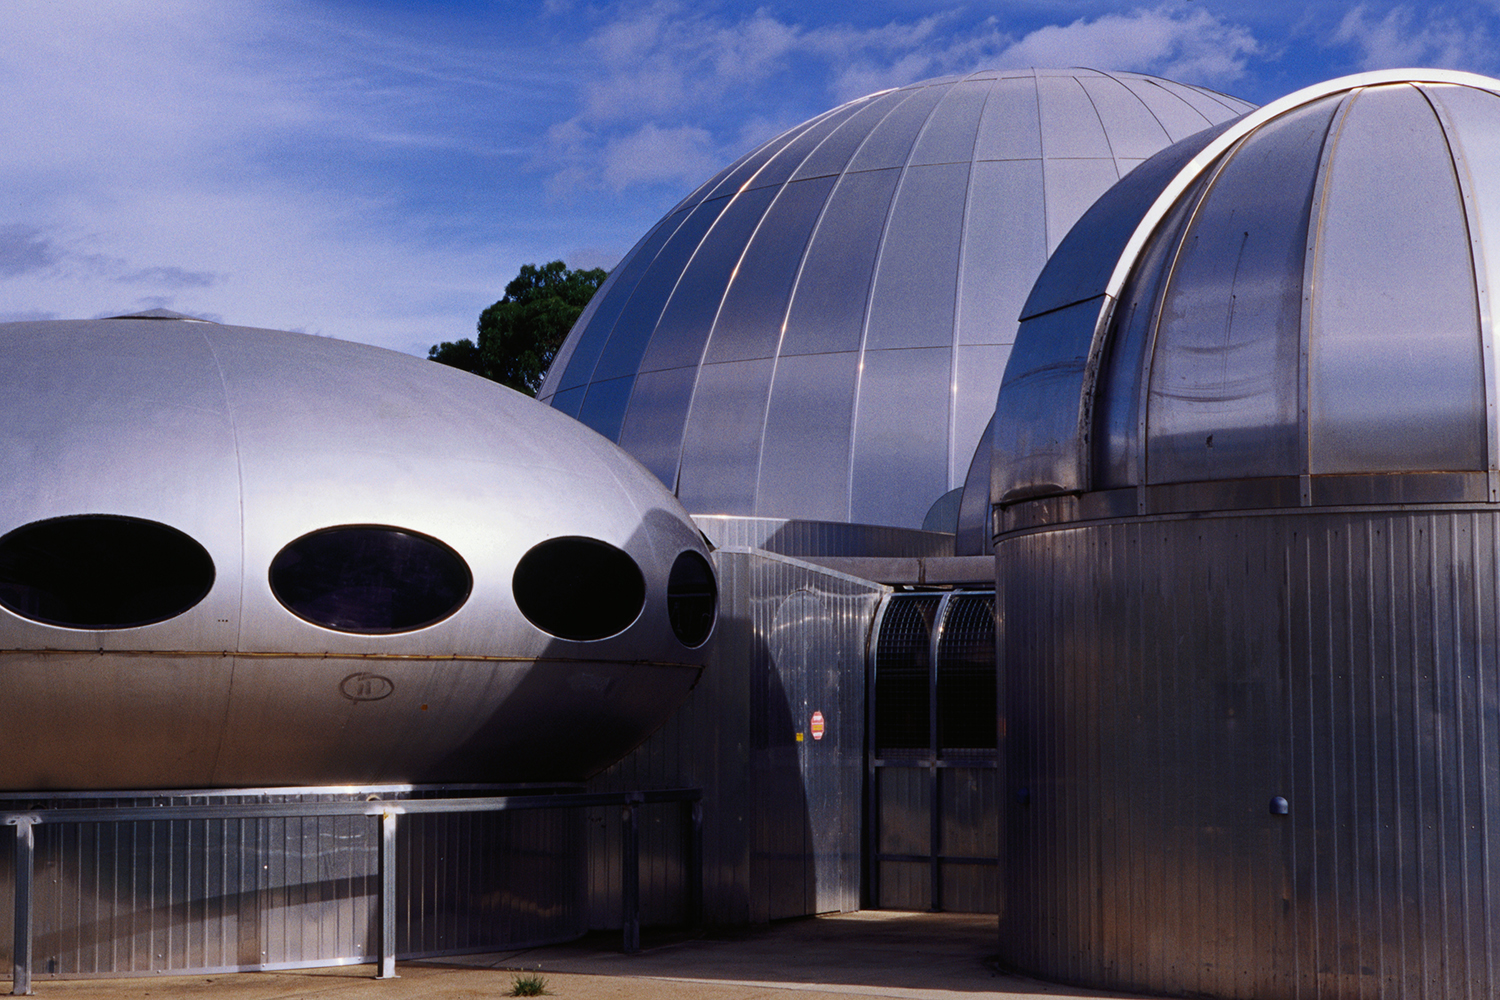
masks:
[[[722,547],[714,565],[714,663],[666,727],[590,790],[704,789],[710,924],[856,910],[864,657],[888,588],[750,547]],[[813,712],[824,717],[820,739]],[[642,921],[681,922],[681,825],[669,810],[651,813],[640,829]],[[620,927],[616,826],[614,811],[590,819],[591,927]]]

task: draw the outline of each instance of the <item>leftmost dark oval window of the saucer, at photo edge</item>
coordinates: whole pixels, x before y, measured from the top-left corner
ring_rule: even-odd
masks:
[[[66,628],[135,628],[177,618],[213,586],[213,559],[154,520],[78,514],[0,538],[0,604]]]

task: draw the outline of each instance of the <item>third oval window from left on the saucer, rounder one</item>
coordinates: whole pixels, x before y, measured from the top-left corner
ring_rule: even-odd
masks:
[[[606,639],[626,631],[646,603],[640,567],[597,538],[549,538],[531,547],[512,577],[526,619],[560,639]]]

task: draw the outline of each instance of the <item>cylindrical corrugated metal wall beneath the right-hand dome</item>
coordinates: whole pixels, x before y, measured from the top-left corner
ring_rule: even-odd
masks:
[[[1497,519],[1002,537],[1005,960],[1144,993],[1500,994]]]

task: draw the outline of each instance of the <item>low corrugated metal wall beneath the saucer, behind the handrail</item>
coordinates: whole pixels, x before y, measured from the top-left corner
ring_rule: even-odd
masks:
[[[348,801],[250,793],[3,801],[0,808]],[[381,792],[381,798],[406,793]],[[33,975],[120,976],[340,966],[378,957],[380,834],[363,816],[42,823]],[[582,810],[398,819],[402,958],[582,934]],[[14,856],[0,850],[0,969]]]

